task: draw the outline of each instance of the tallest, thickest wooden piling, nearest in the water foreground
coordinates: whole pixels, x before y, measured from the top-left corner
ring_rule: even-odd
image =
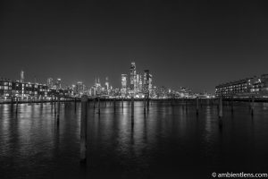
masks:
[[[81,98],[80,116],[80,164],[87,165],[88,97]]]

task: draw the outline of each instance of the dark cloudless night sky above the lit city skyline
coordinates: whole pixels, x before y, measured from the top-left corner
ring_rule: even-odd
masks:
[[[55,3],[56,2],[56,3]],[[157,86],[214,92],[268,73],[268,6],[259,1],[1,1],[0,77],[66,84],[149,69]]]

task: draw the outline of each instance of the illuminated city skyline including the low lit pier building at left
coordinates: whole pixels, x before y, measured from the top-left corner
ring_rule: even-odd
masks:
[[[109,78],[105,78],[102,85],[100,78],[95,78],[95,84],[87,87],[83,81],[76,84],[66,85],[61,78],[47,78],[46,84],[39,83],[37,78],[34,82],[25,81],[25,72],[21,71],[20,80],[0,79],[0,95],[8,99],[17,97],[28,98],[54,98],[58,95],[62,97],[78,97],[87,95],[88,97],[101,98],[191,98],[195,96],[212,97],[208,93],[193,93],[192,90],[180,87],[180,90],[170,90],[165,87],[153,85],[153,75],[149,70],[137,71],[135,62],[131,62],[129,74],[121,74],[121,88],[113,88]]]

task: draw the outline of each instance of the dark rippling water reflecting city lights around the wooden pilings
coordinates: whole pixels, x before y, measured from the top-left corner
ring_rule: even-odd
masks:
[[[130,106],[88,109],[88,167],[80,168],[80,105],[0,105],[0,178],[212,178],[213,172],[268,173],[268,104],[224,107],[154,102],[147,116]]]

